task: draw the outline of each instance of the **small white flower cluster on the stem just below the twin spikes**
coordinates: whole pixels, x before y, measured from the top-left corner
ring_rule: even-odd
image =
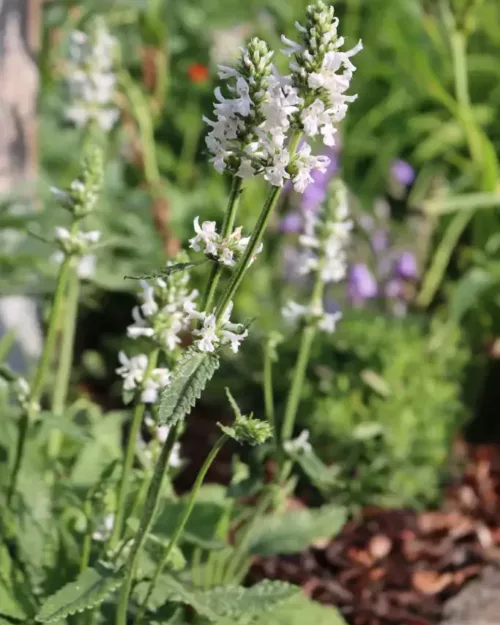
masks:
[[[241,226],[236,228],[228,237],[223,239],[217,232],[215,221],[204,221],[200,226],[200,218],[194,220],[196,235],[189,240],[189,246],[196,252],[203,249],[203,253],[228,267],[233,267],[239,257],[246,250],[250,237],[241,236]],[[262,251],[262,243],[256,250],[256,255]],[[252,262],[255,256],[252,258]]]

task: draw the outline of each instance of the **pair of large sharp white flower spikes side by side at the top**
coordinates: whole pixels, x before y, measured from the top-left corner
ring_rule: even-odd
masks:
[[[294,57],[289,76],[272,67],[272,53],[258,39],[243,49],[236,68],[219,68],[219,76],[234,84],[228,87],[231,98],[216,89],[217,119],[206,120],[212,126],[207,146],[218,171],[241,178],[262,174],[276,187],[291,180],[299,193],[313,182],[314,171],[326,171],[328,157],[312,155],[307,143],[297,154],[289,147],[295,147],[296,133],[321,135],[326,145],[334,145],[336,124],[355,99],[345,92],[355,69],[349,58],[361,44],[339,51],[343,39],[337,36],[338,19],[323,2],[311,5],[307,15],[307,26],[297,25],[302,44],[283,38],[289,46],[286,53]]]

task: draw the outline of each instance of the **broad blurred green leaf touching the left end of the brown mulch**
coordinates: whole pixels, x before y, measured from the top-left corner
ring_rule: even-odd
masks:
[[[269,515],[252,532],[249,551],[270,556],[299,553],[320,538],[331,538],[344,525],[346,510],[337,505]]]

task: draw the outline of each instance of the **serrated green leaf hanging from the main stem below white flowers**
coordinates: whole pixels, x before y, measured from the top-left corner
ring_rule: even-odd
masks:
[[[189,350],[177,367],[173,379],[161,395],[158,422],[175,425],[199,399],[205,386],[219,368],[217,354]]]

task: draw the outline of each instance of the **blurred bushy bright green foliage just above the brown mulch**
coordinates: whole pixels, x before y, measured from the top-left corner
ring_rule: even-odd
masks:
[[[321,369],[323,393],[300,419],[336,476],[326,492],[354,507],[435,501],[464,421],[457,329],[360,315],[339,326],[335,350],[349,364]]]

